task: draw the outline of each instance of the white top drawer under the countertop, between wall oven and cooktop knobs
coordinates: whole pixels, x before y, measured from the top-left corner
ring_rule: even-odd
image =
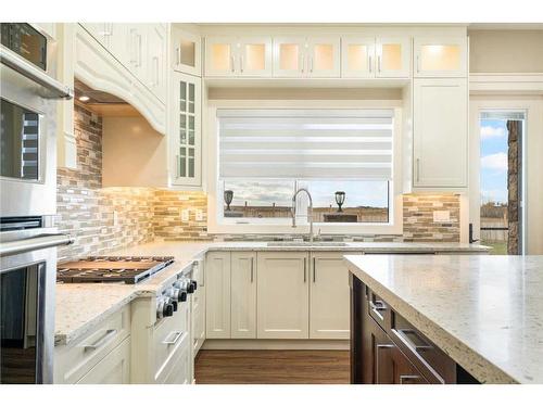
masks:
[[[54,382],[77,382],[129,334],[130,307],[127,305],[74,344],[55,348]]]

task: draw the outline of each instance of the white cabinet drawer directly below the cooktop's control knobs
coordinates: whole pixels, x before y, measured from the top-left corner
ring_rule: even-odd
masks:
[[[172,317],[162,319],[153,331],[155,381],[164,374],[174,353],[182,343],[189,342],[189,303],[179,303]]]

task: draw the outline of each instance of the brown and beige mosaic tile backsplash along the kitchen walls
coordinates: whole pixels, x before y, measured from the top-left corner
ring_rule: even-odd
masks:
[[[59,250],[59,258],[99,255],[155,238],[164,240],[292,240],[301,234],[207,233],[206,195],[151,188],[102,188],[102,118],[75,106],[77,169],[58,170],[60,231],[72,233],[75,244]],[[458,242],[459,198],[454,194],[404,195],[402,236],[323,236],[325,240],[375,242]],[[451,220],[433,221],[433,211],[450,211]],[[182,220],[184,211],[188,220]],[[197,213],[201,212],[201,220]],[[186,213],[187,214],[187,213]]]

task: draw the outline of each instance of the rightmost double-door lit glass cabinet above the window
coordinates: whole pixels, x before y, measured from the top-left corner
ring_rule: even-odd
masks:
[[[342,37],[341,77],[408,78],[408,37]]]

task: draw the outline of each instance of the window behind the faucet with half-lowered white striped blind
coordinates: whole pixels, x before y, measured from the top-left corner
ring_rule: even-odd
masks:
[[[394,109],[217,109],[215,115],[210,231],[303,233],[305,194],[296,200],[300,228],[291,228],[300,188],[311,192],[314,227],[323,233],[397,229]]]

